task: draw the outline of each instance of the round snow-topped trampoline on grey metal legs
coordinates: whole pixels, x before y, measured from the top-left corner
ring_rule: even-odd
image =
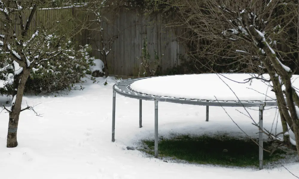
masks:
[[[206,76],[205,76],[206,75]],[[209,75],[209,76],[207,76]],[[214,75],[214,76],[213,76]],[[239,83],[237,86],[243,87],[239,90],[246,93],[243,97],[238,98],[234,89],[228,87],[228,83],[237,83],[231,77],[240,77],[245,79],[252,74],[248,73],[222,73],[222,74],[191,74],[191,75],[169,75],[158,77],[145,77],[137,79],[128,79],[116,83],[113,86],[113,107],[112,107],[112,142],[115,141],[115,96],[119,95],[139,99],[139,127],[142,127],[142,100],[154,101],[155,109],[155,158],[158,158],[158,102],[170,102],[179,104],[191,104],[206,106],[206,121],[209,121],[209,106],[218,107],[259,107],[259,168],[263,169],[263,110],[265,106],[277,106],[275,94],[265,95],[254,89],[249,89],[246,85],[248,83]],[[238,78],[239,78],[238,77]],[[194,81],[194,84],[174,85],[173,81],[184,81],[186,79],[194,78],[199,81]],[[217,81],[222,81],[222,84]],[[222,79],[223,78],[223,79]],[[211,80],[212,79],[212,80]],[[213,81],[214,80],[214,81]],[[256,79],[257,81],[258,79]],[[210,84],[200,84],[201,81]],[[224,83],[226,81],[227,83]],[[259,80],[261,81],[261,80]],[[159,82],[157,84],[157,82]],[[218,82],[219,84],[216,84]],[[263,82],[261,82],[263,83]],[[265,83],[264,83],[265,84]],[[243,86],[242,86],[243,85]],[[265,84],[268,86],[268,84]],[[226,87],[225,87],[226,86]],[[235,85],[236,86],[236,85]],[[256,85],[259,90],[265,89],[263,84]],[[217,89],[215,89],[217,87]],[[238,88],[239,88],[238,87]],[[245,88],[246,87],[246,88]],[[269,87],[269,86],[268,86]],[[246,91],[248,89],[248,91]],[[217,92],[220,91],[221,93]],[[271,88],[266,89],[270,91]],[[181,93],[183,91],[183,93]],[[263,91],[265,92],[265,91]],[[205,93],[216,93],[209,95]],[[223,94],[222,94],[223,93]],[[269,92],[271,93],[271,92]],[[167,94],[171,94],[167,95]],[[241,93],[240,93],[241,94]],[[274,95],[273,95],[274,94]],[[266,96],[266,97],[265,97]],[[263,99],[264,100],[263,100]],[[251,100],[250,100],[251,99]]]

